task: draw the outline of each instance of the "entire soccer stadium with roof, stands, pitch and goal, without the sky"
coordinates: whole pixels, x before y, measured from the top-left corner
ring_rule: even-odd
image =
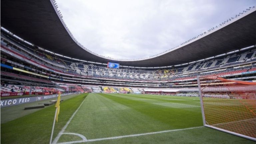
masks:
[[[225,19],[116,59],[55,0],[1,0],[1,144],[255,144],[255,5]]]

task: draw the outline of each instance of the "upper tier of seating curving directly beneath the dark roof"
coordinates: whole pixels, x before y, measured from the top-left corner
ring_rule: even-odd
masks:
[[[1,33],[1,36],[3,34]],[[4,42],[5,41],[5,42]],[[47,71],[46,74],[54,73],[56,75],[68,75],[73,77],[94,78],[94,79],[111,79],[111,80],[126,80],[126,81],[173,81],[173,80],[186,80],[193,79],[197,73],[204,71],[212,71],[214,69],[226,68],[238,64],[255,62],[256,48],[250,48],[243,51],[238,51],[229,55],[215,57],[209,60],[195,62],[183,66],[165,68],[165,69],[135,69],[121,67],[120,69],[108,69],[105,65],[91,64],[80,62],[76,60],[59,57],[40,49],[32,50],[21,43],[15,42],[14,39],[9,39],[4,36],[1,39],[1,50],[6,51],[7,55],[11,55],[22,62],[38,67],[41,71]],[[16,43],[14,46],[10,43]],[[37,59],[40,58],[40,59]],[[2,57],[1,57],[2,60]],[[254,66],[254,65],[253,65]],[[211,72],[207,74],[227,75],[246,72],[247,70],[231,70]],[[251,71],[251,70],[250,70]],[[22,76],[17,74],[8,74],[7,76],[18,77],[21,79],[29,79],[34,81],[52,83],[50,80],[44,80],[29,76]],[[185,75],[186,74],[186,75]],[[184,76],[183,76],[184,75]]]

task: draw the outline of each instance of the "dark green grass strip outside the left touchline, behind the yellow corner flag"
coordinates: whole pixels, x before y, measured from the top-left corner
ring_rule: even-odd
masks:
[[[60,104],[59,122],[56,122],[54,136],[59,133],[68,119],[84,100],[87,94],[64,100]],[[48,144],[55,114],[54,105],[1,124],[3,144]]]

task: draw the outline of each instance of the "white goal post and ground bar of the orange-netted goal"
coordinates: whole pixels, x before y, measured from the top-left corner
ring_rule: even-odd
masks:
[[[221,129],[221,128],[218,128],[218,127],[214,127],[214,126],[208,125],[206,123],[206,121],[205,121],[205,114],[204,114],[204,107],[203,107],[203,98],[202,98],[202,91],[201,91],[199,75],[197,75],[197,84],[198,84],[198,90],[199,90],[201,112],[202,112],[202,118],[203,118],[203,125],[205,127],[209,127],[209,128],[215,129],[215,130],[219,130],[219,131],[226,132],[226,133],[229,133],[229,134],[232,134],[232,135],[236,135],[236,136],[239,136],[239,137],[243,137],[243,138],[246,138],[246,139],[249,139],[249,140],[252,140],[252,141],[256,141],[256,138],[254,138],[254,137],[246,136],[246,135],[243,135],[243,134],[235,133],[235,132],[232,132],[232,131],[228,131],[228,130],[225,130],[225,129]]]

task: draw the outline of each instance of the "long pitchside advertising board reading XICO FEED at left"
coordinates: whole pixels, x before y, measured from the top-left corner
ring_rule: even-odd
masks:
[[[61,94],[61,96],[76,94],[76,93],[80,93],[80,92],[63,93],[63,94]],[[58,94],[3,99],[3,100],[1,100],[0,108],[13,106],[13,105],[20,105],[20,104],[30,103],[30,102],[35,102],[35,101],[41,101],[41,100],[55,98],[55,97],[58,97]]]

